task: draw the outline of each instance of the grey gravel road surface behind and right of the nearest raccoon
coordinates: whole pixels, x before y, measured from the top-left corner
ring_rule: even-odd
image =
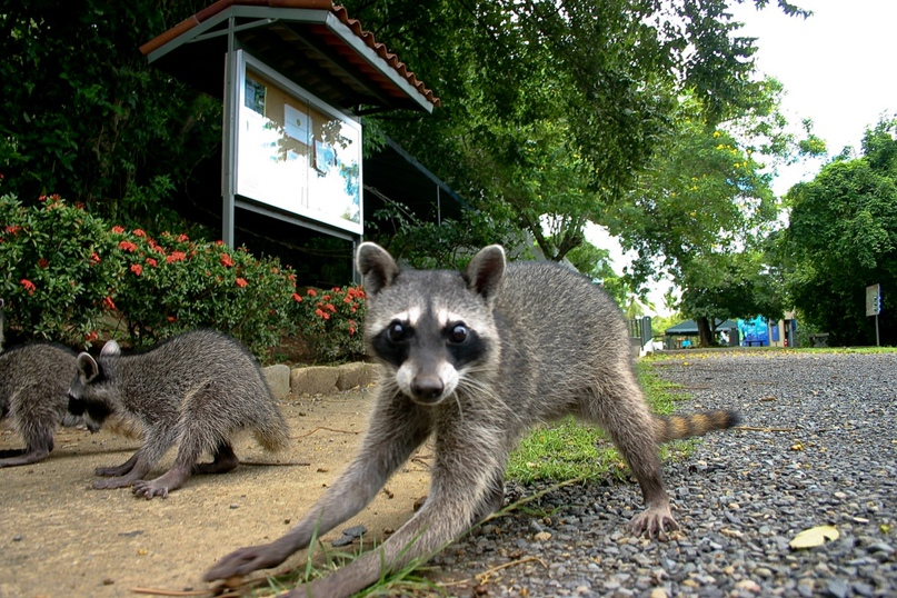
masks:
[[[654,367],[691,396],[677,411],[734,408],[751,428],[710,435],[687,459],[665,464],[684,534],[666,542],[628,535],[642,505],[635,485],[570,486],[436,557],[456,579],[518,561],[449,591],[897,596],[897,355],[682,353]],[[541,488],[508,485],[507,494]],[[820,525],[840,537],[789,547]]]

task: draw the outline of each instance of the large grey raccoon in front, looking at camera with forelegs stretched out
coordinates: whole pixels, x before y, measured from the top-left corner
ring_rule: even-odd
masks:
[[[373,243],[357,263],[369,297],[365,336],[381,365],[367,435],[347,470],[282,538],[221,559],[207,580],[273,567],[361,510],[435,436],[423,506],[376,550],[290,596],[343,597],[432,554],[504,499],[510,451],[532,425],[575,415],[599,425],[636,475],[647,510],[636,534],[665,536],[670,512],[658,442],[725,429],[729,411],[652,416],[632,371],[625,320],[584,277],[548,263],[506,265],[499,246],[464,272],[400,270]]]

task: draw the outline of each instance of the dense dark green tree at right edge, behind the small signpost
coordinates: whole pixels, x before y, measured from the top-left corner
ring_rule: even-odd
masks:
[[[835,158],[786,200],[790,222],[779,252],[791,303],[838,345],[871,345],[869,285],[881,285],[884,342],[897,341],[890,297],[897,289],[897,119],[867,130],[863,155]]]

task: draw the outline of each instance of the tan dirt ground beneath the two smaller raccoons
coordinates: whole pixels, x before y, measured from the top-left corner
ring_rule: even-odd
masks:
[[[295,439],[291,449],[266,455],[250,437],[235,447],[243,461],[281,465],[241,465],[223,476],[193,477],[167,500],[90,488],[96,467],[123,462],[139,441],[60,430],[43,462],[0,469],[0,598],[133,597],[133,588],[208,588],[201,576],[220,557],[273,540],[298,521],[355,455],[361,435],[352,432],[365,429],[372,400],[363,390],[290,397],[283,413]],[[21,446],[18,435],[0,433],[0,449]],[[173,456],[172,450],[159,472]],[[391,498],[380,492],[323,541],[329,546],[355,525],[367,527],[366,541],[382,539],[410,517],[428,484],[426,465],[409,461],[387,485]],[[303,557],[298,552],[278,570],[298,566]]]

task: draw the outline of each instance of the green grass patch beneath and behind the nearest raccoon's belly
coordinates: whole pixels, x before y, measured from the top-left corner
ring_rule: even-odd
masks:
[[[655,413],[671,413],[676,401],[689,398],[678,391],[678,385],[657,376],[647,362],[636,363],[636,375]],[[660,458],[685,458],[695,442],[697,440],[690,439],[664,445]],[[526,484],[572,478],[625,479],[629,475],[629,468],[602,430],[568,417],[539,426],[526,436],[511,454],[506,477]]]

